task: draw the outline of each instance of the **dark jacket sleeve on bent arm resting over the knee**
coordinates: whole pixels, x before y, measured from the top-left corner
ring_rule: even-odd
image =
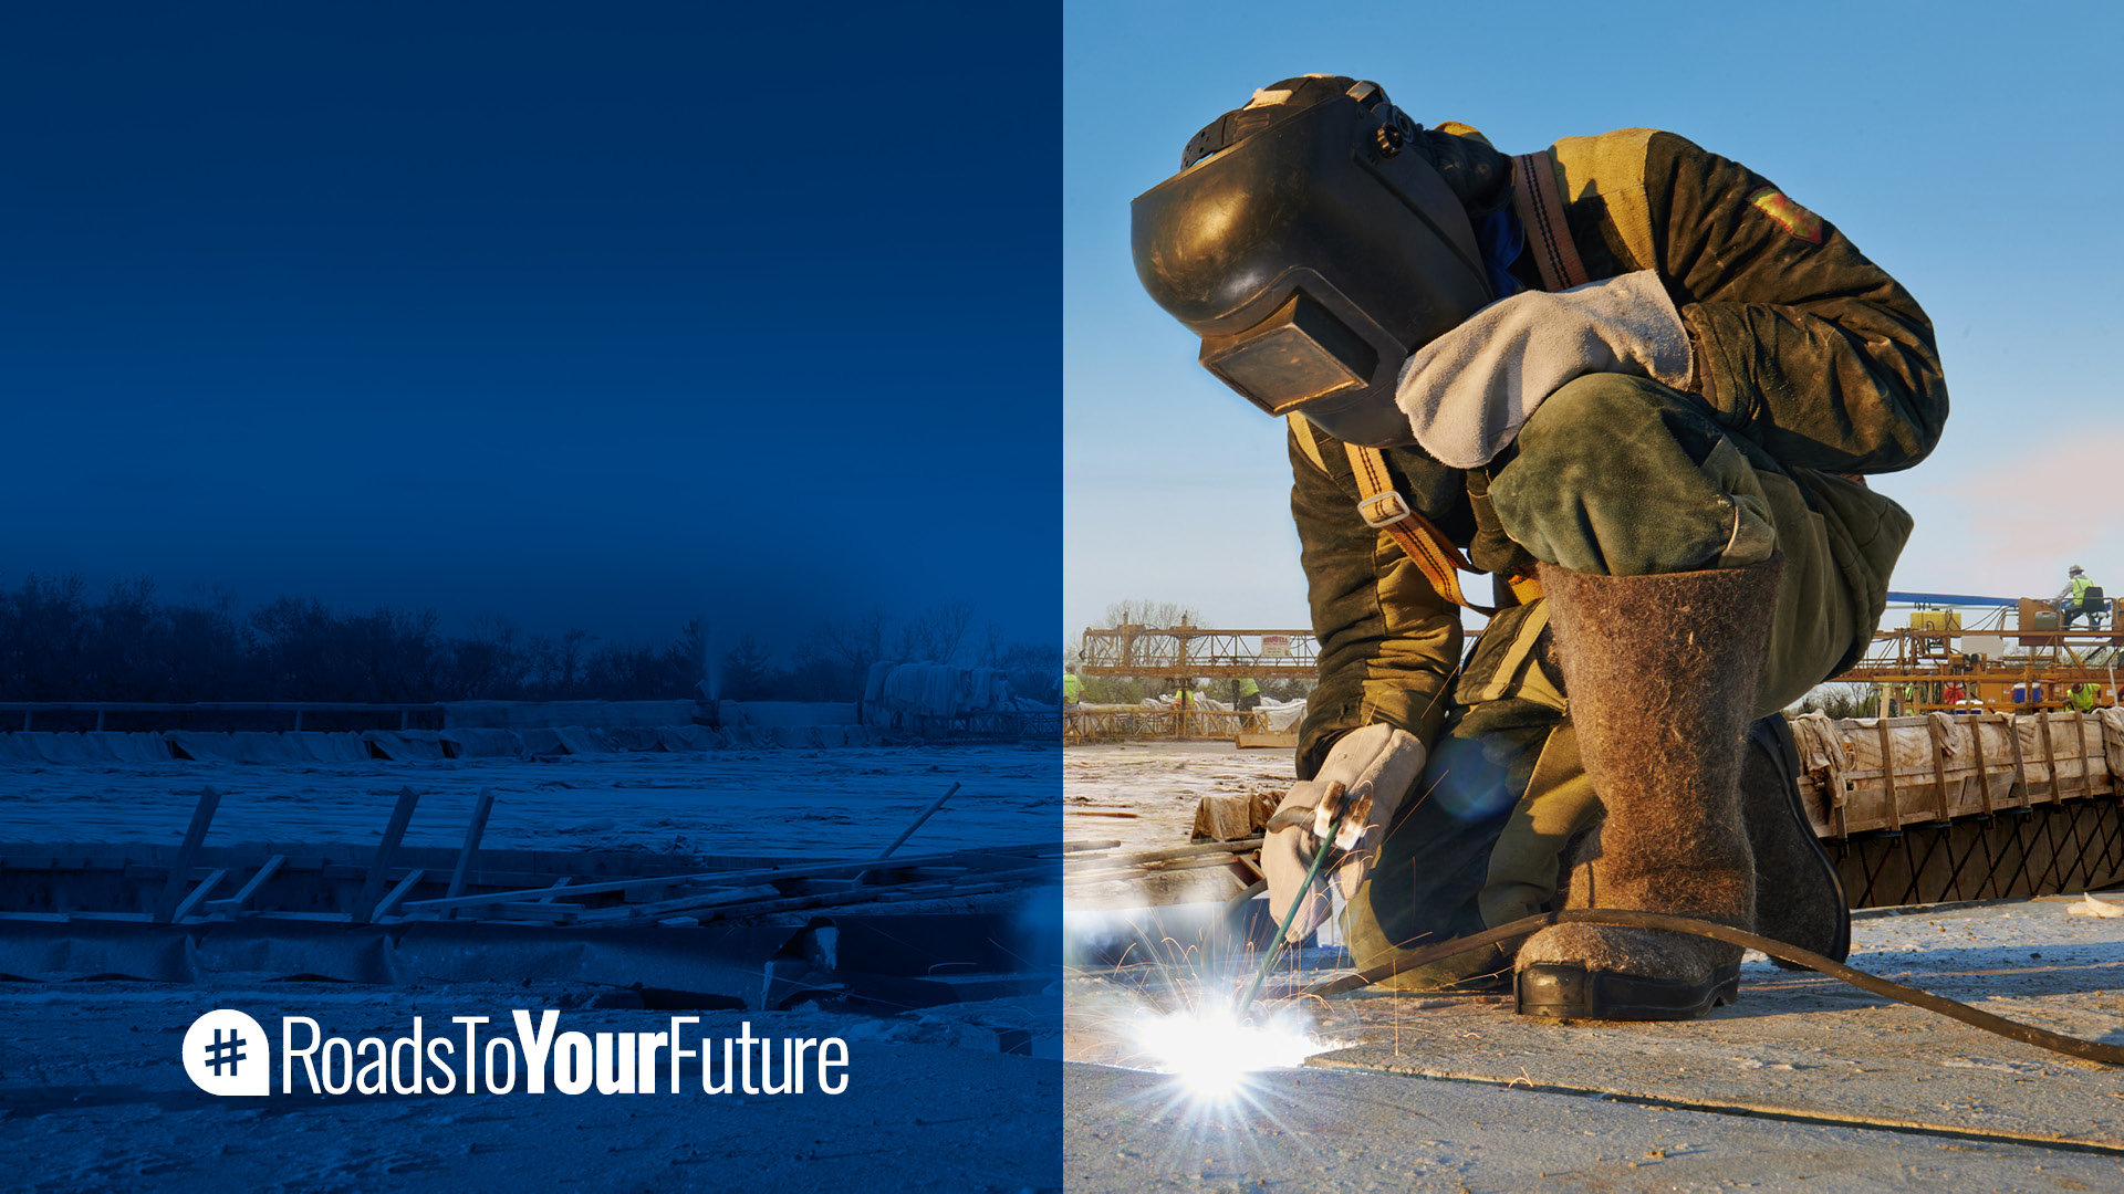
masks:
[[[1652,136],[1646,198],[1691,389],[1727,427],[1825,472],[1892,472],[1933,450],[1948,387],[1909,291],[1776,185],[1680,136]]]

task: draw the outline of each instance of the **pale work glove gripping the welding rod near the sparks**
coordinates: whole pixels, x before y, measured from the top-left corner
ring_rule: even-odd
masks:
[[[1285,931],[1285,941],[1296,945],[1328,920],[1330,875],[1342,888],[1344,901],[1357,894],[1372,858],[1378,856],[1385,826],[1393,822],[1393,814],[1423,775],[1423,741],[1417,735],[1389,724],[1368,724],[1342,735],[1319,773],[1291,784],[1283,795],[1262,839],[1262,875],[1268,877],[1268,914],[1277,924],[1291,903],[1304,901]],[[1338,809],[1342,826],[1334,841],[1325,841]],[[1306,871],[1323,846],[1342,858],[1330,856],[1306,886]]]

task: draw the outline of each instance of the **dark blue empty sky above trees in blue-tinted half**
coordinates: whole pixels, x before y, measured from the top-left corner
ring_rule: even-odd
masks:
[[[1047,639],[1058,13],[756,8],[11,6],[0,586]]]

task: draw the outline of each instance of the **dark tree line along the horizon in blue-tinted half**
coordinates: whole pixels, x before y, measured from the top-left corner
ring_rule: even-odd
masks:
[[[973,603],[905,622],[881,610],[818,627],[782,661],[756,635],[714,652],[692,618],[665,644],[586,629],[525,633],[480,618],[446,635],[433,610],[344,612],[314,597],[244,610],[225,589],[164,599],[136,578],[91,595],[79,576],[0,589],[0,701],[854,701],[881,659],[996,665],[1013,690],[1060,686],[1060,652],[973,631]],[[707,680],[703,688],[703,680]]]

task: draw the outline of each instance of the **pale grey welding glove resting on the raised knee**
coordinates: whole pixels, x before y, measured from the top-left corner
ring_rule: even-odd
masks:
[[[1686,389],[1689,331],[1652,270],[1568,291],[1521,291],[1410,353],[1395,404],[1423,450],[1487,465],[1563,382],[1635,374]]]

